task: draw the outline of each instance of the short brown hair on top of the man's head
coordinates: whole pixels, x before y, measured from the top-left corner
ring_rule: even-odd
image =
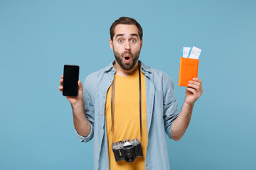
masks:
[[[124,17],[124,16],[120,17],[119,19],[114,21],[114,23],[112,23],[112,26],[110,27],[110,39],[111,40],[113,40],[113,37],[114,37],[114,28],[118,24],[126,24],[126,25],[134,24],[135,26],[137,26],[139,38],[142,40],[142,36],[143,36],[142,26],[140,26],[139,23],[134,18]]]

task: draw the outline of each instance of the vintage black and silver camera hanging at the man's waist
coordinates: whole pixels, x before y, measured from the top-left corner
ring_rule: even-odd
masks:
[[[142,143],[137,138],[112,143],[112,151],[116,162],[133,162],[135,158],[143,156]]]

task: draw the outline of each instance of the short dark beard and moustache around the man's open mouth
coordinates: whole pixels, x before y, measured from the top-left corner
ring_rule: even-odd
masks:
[[[132,52],[129,52],[129,51],[125,51],[122,54],[120,54],[114,50],[114,46],[113,46],[113,52],[114,52],[114,57],[117,60],[118,64],[124,70],[131,70],[139,60],[140,50],[135,52],[134,54],[132,54]],[[127,54],[131,56],[132,62],[124,63],[123,58],[124,58],[124,55],[127,55]]]

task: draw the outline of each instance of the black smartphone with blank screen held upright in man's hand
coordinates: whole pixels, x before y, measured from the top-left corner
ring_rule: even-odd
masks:
[[[63,96],[78,96],[79,66],[64,65]]]

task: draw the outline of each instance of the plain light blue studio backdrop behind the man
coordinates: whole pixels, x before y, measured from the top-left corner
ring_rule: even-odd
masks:
[[[80,80],[114,56],[120,16],[144,29],[140,60],[178,86],[181,48],[201,48],[196,101],[183,138],[167,139],[171,169],[255,169],[255,1],[0,1],[0,169],[92,169],[70,103],[58,91],[64,64]],[[156,153],[157,154],[157,153]]]

